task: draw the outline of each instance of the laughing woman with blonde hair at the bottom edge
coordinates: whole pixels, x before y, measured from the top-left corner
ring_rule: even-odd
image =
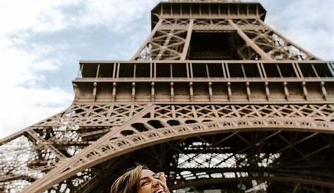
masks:
[[[170,193],[164,173],[154,173],[145,166],[137,166],[117,178],[111,193]]]

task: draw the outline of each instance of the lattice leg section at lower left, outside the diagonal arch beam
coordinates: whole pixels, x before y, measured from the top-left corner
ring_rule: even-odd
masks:
[[[73,104],[0,142],[0,189],[20,192],[147,105]],[[9,188],[11,187],[11,188]]]

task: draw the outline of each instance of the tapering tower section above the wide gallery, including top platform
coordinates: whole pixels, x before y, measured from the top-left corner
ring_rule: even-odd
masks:
[[[318,60],[264,23],[259,3],[171,0],[151,11],[151,35],[132,60]]]

